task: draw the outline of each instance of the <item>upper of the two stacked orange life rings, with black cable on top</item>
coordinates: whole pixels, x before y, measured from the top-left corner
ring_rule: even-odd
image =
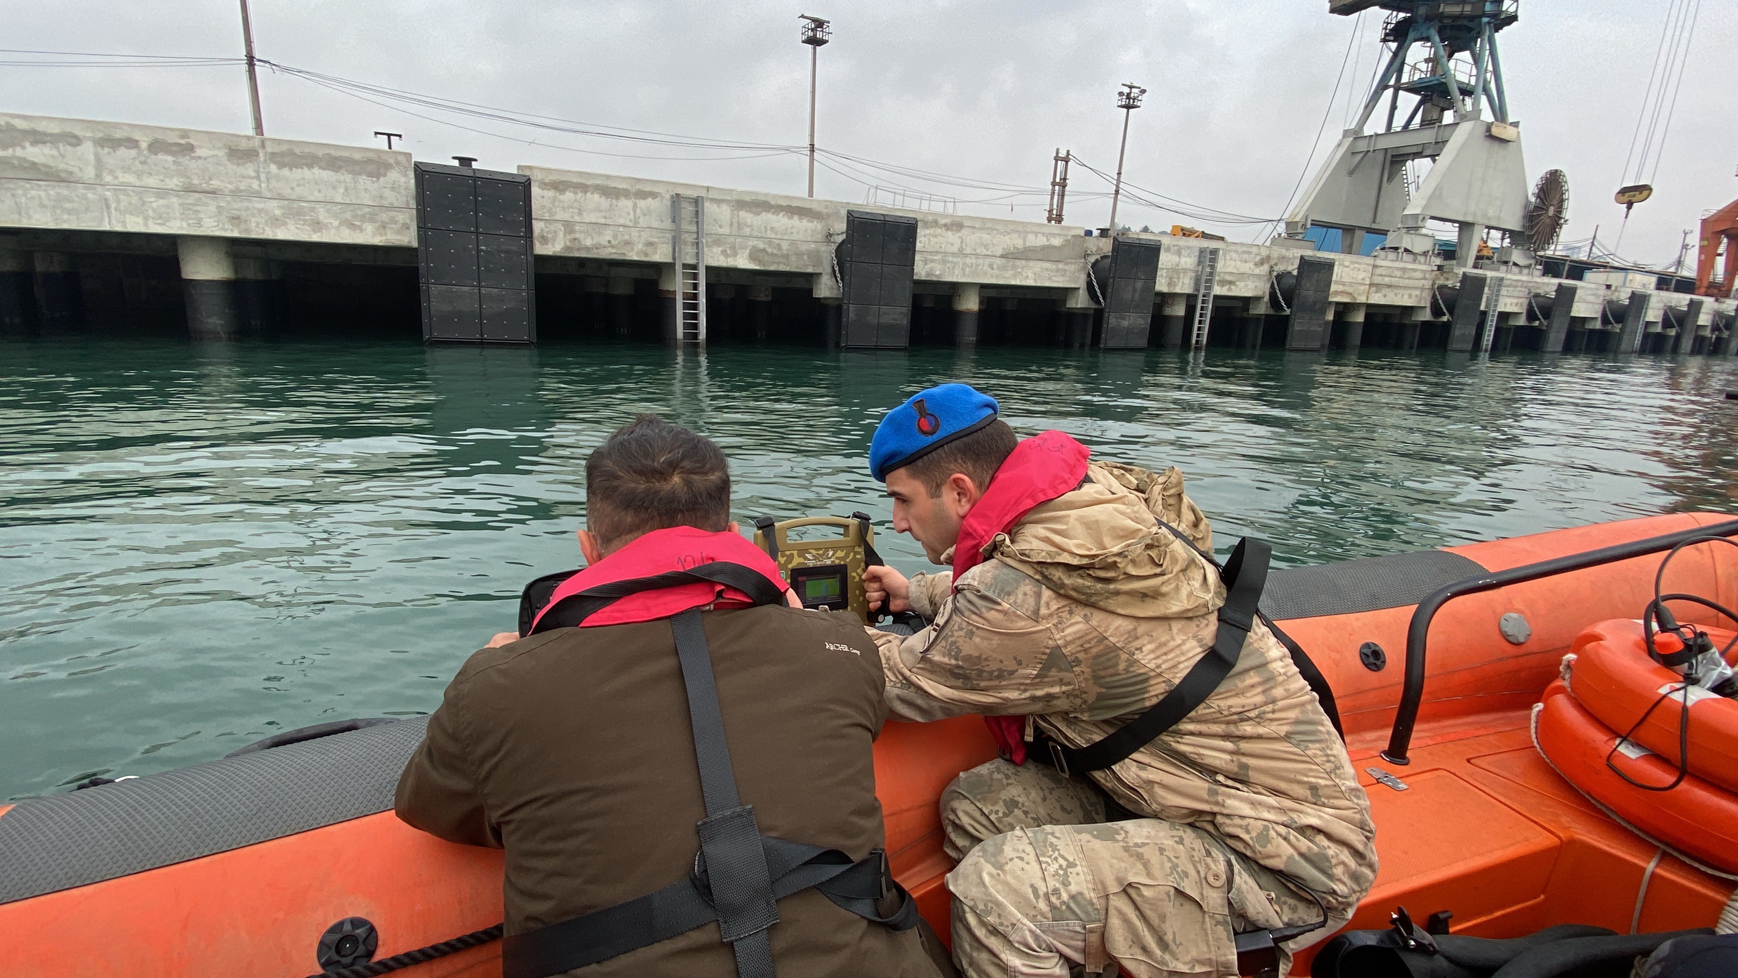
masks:
[[[1733,633],[1724,628],[1708,628],[1707,632],[1715,647],[1724,647],[1733,640]],[[1641,623],[1630,620],[1601,621],[1575,640],[1573,653],[1569,693],[1575,701],[1620,734],[1634,727],[1635,733],[1630,734],[1630,740],[1674,766],[1672,778],[1675,778],[1684,701],[1681,694],[1660,701],[1660,691],[1675,687],[1682,680],[1675,672],[1648,658]],[[1695,689],[1691,696],[1689,771],[1728,792],[1738,792],[1738,700]],[[1658,707],[1655,707],[1656,701]],[[1655,707],[1653,713],[1648,713],[1649,707]],[[1635,722],[1641,720],[1642,713],[1648,713],[1648,720],[1637,727]],[[1668,781],[1670,778],[1662,783]]]

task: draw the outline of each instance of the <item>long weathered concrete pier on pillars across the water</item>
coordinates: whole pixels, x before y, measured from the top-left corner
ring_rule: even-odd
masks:
[[[728,299],[709,291],[711,341],[838,343],[834,247],[848,211],[862,205],[547,167],[518,174],[530,181],[546,338],[673,334],[669,200],[680,193],[704,197],[707,282],[730,289]],[[0,329],[85,320],[101,327],[97,320],[146,313],[167,325],[181,315],[176,305],[184,305],[188,329],[207,336],[332,329],[339,320],[414,325],[414,186],[408,153],[0,113]],[[1609,284],[1557,280],[1536,265],[1479,259],[1470,240],[1444,263],[1383,249],[1330,256],[1291,238],[1243,244],[1133,231],[1112,242],[1048,223],[881,211],[916,223],[911,339],[919,345],[1090,343],[1098,299],[1086,268],[1116,244],[1158,249],[1151,289],[1159,322],[1145,345],[1166,350],[1191,341],[1203,249],[1218,252],[1218,346],[1258,348],[1270,315],[1290,317],[1291,350],[1411,350],[1422,341],[1467,352],[1483,350],[1486,338],[1496,355],[1505,345],[1735,346],[1724,325],[1715,334],[1738,310],[1731,299],[1693,311],[1691,296],[1648,289],[1655,282],[1644,273]],[[1295,278],[1297,294],[1269,308],[1281,278]],[[1533,308],[1535,298],[1550,299],[1549,317]],[[1608,303],[1634,313],[1608,318]],[[1272,325],[1267,343],[1277,345],[1279,322]]]

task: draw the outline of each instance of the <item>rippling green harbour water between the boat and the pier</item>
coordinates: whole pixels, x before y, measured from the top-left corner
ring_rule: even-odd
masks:
[[[1733,508],[1731,360],[403,343],[0,345],[0,797],[433,708],[579,562],[586,454],[716,439],[737,517],[886,526],[879,414],[944,379],[1180,465],[1227,546],[1309,564]],[[921,550],[883,538],[916,569]]]

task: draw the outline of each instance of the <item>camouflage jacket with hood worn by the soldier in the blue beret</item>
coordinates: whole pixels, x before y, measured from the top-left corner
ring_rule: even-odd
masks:
[[[876,632],[893,715],[1032,715],[1085,747],[1158,703],[1213,644],[1225,600],[1211,529],[1177,468],[1095,461],[958,581],[911,581],[930,628]],[[951,559],[951,557],[949,557]],[[1191,823],[1349,914],[1376,874],[1370,802],[1316,694],[1262,625],[1189,717],[1091,774],[1137,814]]]

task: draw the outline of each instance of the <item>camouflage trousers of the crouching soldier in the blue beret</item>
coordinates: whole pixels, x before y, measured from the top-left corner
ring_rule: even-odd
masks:
[[[959,861],[947,889],[961,975],[1116,975],[1121,964],[1135,978],[1234,976],[1234,933],[1321,919],[1211,832],[1104,814],[1088,780],[1036,762],[991,760],[954,778],[942,830]],[[1283,952],[1281,975],[1288,966]]]

